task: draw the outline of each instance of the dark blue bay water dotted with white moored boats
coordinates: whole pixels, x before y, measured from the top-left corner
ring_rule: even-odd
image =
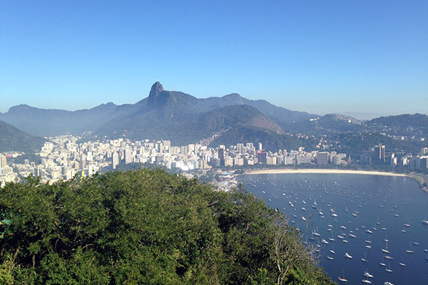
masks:
[[[428,195],[414,180],[343,174],[242,175],[238,180],[285,212],[290,224],[307,228],[302,240],[319,249],[320,264],[333,281],[340,284],[338,276],[345,276],[347,284],[364,284],[363,279],[428,284],[428,226],[422,224],[428,219]],[[363,276],[365,271],[373,277]]]

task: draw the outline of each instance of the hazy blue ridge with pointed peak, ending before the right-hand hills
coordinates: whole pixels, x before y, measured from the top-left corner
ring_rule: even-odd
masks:
[[[233,115],[233,110],[225,108],[231,105],[248,107],[236,109],[243,115],[238,118]],[[208,115],[206,119],[205,115]],[[127,135],[136,139],[173,138],[173,134],[183,139],[199,139],[233,124],[284,133],[284,128],[290,124],[315,117],[277,107],[265,100],[248,100],[238,93],[198,99],[183,92],[165,90],[158,81],[151,86],[148,97],[135,104],[107,103],[76,111],[16,105],[8,112],[0,113],[0,120],[32,135],[49,137],[95,132],[100,136]]]

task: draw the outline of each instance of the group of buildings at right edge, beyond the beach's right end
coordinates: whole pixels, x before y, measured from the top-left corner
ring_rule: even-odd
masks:
[[[363,150],[360,164],[408,166],[412,168],[428,168],[428,147],[422,147],[419,155],[404,152],[387,152],[385,145],[379,144],[369,150]]]

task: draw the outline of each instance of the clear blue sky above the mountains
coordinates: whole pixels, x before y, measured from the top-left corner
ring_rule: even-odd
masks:
[[[136,103],[156,79],[317,114],[428,113],[428,1],[0,1],[0,112]]]

